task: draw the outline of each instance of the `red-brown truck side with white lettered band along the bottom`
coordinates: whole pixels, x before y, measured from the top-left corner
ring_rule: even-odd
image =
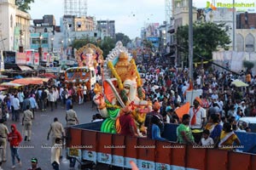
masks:
[[[174,127],[177,126],[170,128]],[[172,130],[176,132],[176,128]],[[246,135],[249,135],[237,134],[241,138],[248,138]],[[69,127],[67,148],[69,156],[81,161],[127,168],[131,168],[129,161],[134,161],[141,170],[256,169],[256,156],[253,154],[101,133],[81,126]]]

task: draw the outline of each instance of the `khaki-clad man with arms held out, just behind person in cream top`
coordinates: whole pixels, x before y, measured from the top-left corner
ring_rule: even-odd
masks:
[[[51,133],[51,144],[55,144],[55,139],[59,138],[65,138],[65,131],[61,124],[61,122],[58,121],[58,118],[54,118],[54,122],[50,124],[49,126],[49,132],[47,135],[47,140],[49,140],[49,134]],[[62,156],[61,156],[62,157]]]

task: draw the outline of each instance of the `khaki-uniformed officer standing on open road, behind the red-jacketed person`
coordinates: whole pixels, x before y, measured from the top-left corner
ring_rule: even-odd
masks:
[[[29,106],[26,105],[26,111],[24,111],[23,118],[22,118],[22,126],[24,126],[25,141],[26,139],[28,141],[31,140],[32,119],[33,119],[33,113],[32,111],[29,110]]]

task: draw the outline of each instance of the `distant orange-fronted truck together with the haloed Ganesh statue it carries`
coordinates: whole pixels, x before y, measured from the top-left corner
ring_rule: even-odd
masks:
[[[97,68],[101,68],[103,62],[102,54],[101,48],[90,43],[79,48],[75,54],[79,67],[71,67],[65,71],[67,86],[85,83],[88,89],[92,88],[96,83]]]

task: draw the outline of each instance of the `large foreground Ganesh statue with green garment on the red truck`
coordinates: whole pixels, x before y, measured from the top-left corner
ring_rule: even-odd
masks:
[[[105,62],[102,86],[96,84],[94,88],[94,101],[100,114],[106,118],[102,122],[101,131],[119,133],[119,116],[124,114],[122,108],[129,106],[137,133],[145,133],[143,122],[146,113],[152,109],[152,103],[144,100],[143,82],[134,59],[122,42],[117,42]]]

